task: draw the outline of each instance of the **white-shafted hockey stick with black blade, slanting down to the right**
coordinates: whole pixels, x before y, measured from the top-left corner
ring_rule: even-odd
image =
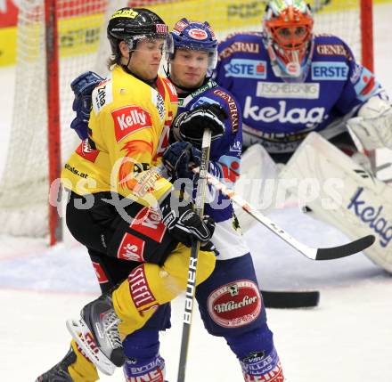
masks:
[[[199,168],[194,168],[193,171],[197,173],[199,172]],[[274,223],[271,219],[257,211],[256,208],[249,205],[246,200],[242,199],[240,195],[235,193],[235,191],[226,187],[225,184],[216,179],[215,176],[208,174],[207,182],[213,185],[216,190],[221,191],[229,199],[232,199],[234,203],[239,205],[249,215],[253,216],[257,220],[257,222],[263,224],[270,231],[278,235],[282,240],[286,241],[286,243],[288,243],[292,248],[297,249],[298,252],[311,260],[333,260],[340,257],[350,256],[370,247],[376,239],[374,235],[367,235],[363,236],[363,238],[351,241],[338,247],[309,247],[306,244],[293,238],[288,232],[285,232],[278,224]]]

